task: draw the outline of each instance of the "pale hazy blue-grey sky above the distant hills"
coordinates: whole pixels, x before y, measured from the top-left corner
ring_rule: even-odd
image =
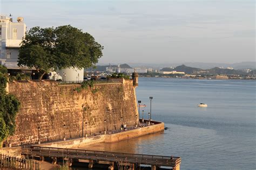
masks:
[[[0,13],[90,33],[99,63],[255,61],[254,0],[0,0]]]

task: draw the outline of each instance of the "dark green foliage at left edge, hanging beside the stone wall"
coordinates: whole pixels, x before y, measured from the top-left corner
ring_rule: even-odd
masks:
[[[7,69],[0,65],[0,147],[2,141],[15,132],[15,117],[20,104],[14,95],[6,93],[7,82]]]

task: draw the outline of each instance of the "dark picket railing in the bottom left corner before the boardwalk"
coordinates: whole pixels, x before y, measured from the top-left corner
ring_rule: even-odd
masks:
[[[10,157],[9,155],[0,154],[0,168],[22,168],[22,169],[31,169],[31,170],[38,170],[39,163],[30,160],[30,159],[22,159],[17,157]]]

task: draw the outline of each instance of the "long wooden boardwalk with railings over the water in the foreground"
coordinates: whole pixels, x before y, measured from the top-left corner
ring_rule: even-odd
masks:
[[[91,162],[117,162],[118,164],[133,164],[133,165],[151,165],[154,167],[172,167],[179,169],[181,162],[180,157],[167,157],[160,155],[147,155],[147,154],[130,154],[118,152],[104,152],[104,151],[90,151],[90,150],[76,150],[69,148],[56,148],[56,147],[42,147],[32,146],[31,148],[23,148],[22,154],[30,155],[32,157],[50,157],[55,158],[68,158],[68,159],[82,159]]]

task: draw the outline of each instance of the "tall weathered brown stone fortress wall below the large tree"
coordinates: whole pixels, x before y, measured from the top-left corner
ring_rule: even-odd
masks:
[[[138,122],[136,94],[132,80],[123,83],[96,84],[79,93],[78,84],[59,85],[57,82],[10,82],[9,93],[21,101],[16,118],[16,132],[10,137],[12,146],[82,136],[82,105],[87,134]],[[123,118],[123,121],[121,120]],[[65,128],[64,125],[65,124]],[[38,127],[40,129],[38,130]],[[8,140],[9,140],[8,139]]]

